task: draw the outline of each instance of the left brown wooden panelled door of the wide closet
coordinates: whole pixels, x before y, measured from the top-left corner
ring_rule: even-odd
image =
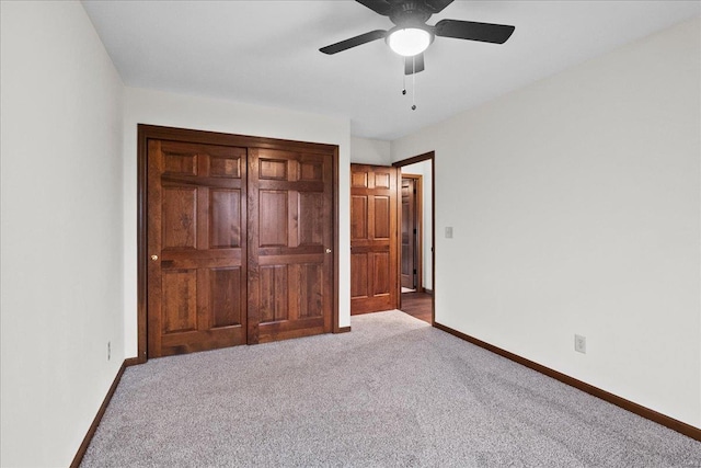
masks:
[[[246,342],[246,149],[148,141],[148,356]]]

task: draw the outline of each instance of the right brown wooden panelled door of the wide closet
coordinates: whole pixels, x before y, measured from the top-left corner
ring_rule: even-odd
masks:
[[[331,161],[250,151],[249,343],[332,331]]]

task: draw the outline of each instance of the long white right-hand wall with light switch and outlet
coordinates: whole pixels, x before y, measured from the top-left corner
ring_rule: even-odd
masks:
[[[700,30],[392,142],[436,151],[438,322],[697,427]]]

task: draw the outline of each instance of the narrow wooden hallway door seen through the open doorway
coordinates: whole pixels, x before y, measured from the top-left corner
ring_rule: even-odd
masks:
[[[416,289],[416,181],[402,175],[402,247],[401,283],[403,288]]]

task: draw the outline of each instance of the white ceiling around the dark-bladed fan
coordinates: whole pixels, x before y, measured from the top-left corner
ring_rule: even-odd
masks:
[[[391,140],[686,19],[701,1],[455,1],[444,18],[510,24],[504,45],[437,37],[402,96],[403,61],[383,41],[325,45],[392,26],[355,1],[83,1],[129,87],[350,119]]]

